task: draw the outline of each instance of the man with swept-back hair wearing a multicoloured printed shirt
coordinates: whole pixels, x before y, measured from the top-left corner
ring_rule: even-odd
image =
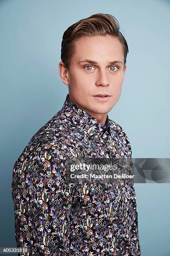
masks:
[[[13,169],[15,238],[30,255],[140,255],[133,183],[67,184],[67,158],[128,158],[130,142],[107,113],[120,98],[128,45],[98,13],[62,38],[62,109],[32,137]]]

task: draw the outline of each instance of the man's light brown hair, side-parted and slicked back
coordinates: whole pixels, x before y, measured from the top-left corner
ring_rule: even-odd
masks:
[[[70,59],[75,52],[75,43],[78,39],[83,36],[106,36],[107,34],[115,36],[122,44],[125,65],[129,50],[128,44],[120,32],[118,20],[110,14],[97,13],[77,21],[64,32],[61,43],[61,60],[64,62],[65,68],[70,70]]]

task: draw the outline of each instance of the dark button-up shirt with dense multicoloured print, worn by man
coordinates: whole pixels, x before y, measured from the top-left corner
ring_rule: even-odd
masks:
[[[133,183],[66,184],[72,157],[128,158],[120,125],[100,123],[70,100],[40,128],[15,161],[15,239],[29,255],[140,255]]]

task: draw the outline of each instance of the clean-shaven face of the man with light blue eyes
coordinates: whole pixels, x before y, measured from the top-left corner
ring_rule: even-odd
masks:
[[[126,70],[123,61],[122,45],[116,37],[80,38],[70,61],[67,81],[62,79],[69,84],[70,99],[94,118],[104,120],[120,98]],[[109,96],[95,96],[99,94]]]

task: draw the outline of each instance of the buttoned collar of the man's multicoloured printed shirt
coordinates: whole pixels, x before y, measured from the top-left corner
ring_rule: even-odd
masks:
[[[69,94],[67,94],[61,111],[62,115],[65,115],[65,118],[70,118],[82,132],[90,137],[102,136],[104,133],[108,133],[110,135],[110,121],[108,115],[106,123],[103,125],[99,120],[95,119],[92,115],[89,115],[72,102]]]

